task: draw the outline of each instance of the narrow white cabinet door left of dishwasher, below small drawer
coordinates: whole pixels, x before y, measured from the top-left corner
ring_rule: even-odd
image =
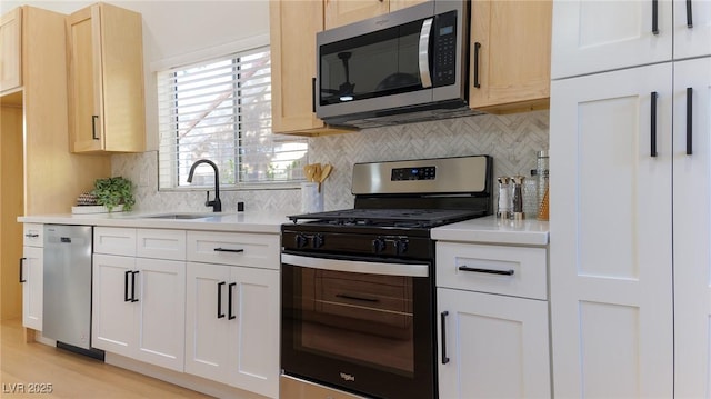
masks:
[[[42,330],[42,289],[44,256],[41,247],[24,247],[22,259],[22,326]]]

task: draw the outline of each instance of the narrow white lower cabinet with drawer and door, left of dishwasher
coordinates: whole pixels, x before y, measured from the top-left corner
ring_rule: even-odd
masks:
[[[20,283],[22,283],[22,326],[42,330],[44,255],[42,225],[24,225]]]

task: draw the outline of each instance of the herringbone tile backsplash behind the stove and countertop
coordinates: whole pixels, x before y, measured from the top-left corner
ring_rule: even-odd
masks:
[[[535,151],[548,149],[549,112],[534,111],[510,116],[475,116],[410,123],[360,132],[309,139],[309,163],[331,163],[333,172],[323,183],[324,209],[353,207],[351,171],[356,162],[401,159],[489,154],[493,176],[530,177],[535,168]],[[204,211],[204,190],[158,191],[157,152],[117,154],[111,159],[113,176],[123,176],[137,184],[136,210]],[[527,211],[534,211],[535,192],[529,179],[524,199]],[[494,184],[495,186],[495,184]],[[212,193],[211,193],[212,194]],[[236,211],[243,201],[246,210],[299,212],[299,189],[240,190],[220,192],[222,209]]]

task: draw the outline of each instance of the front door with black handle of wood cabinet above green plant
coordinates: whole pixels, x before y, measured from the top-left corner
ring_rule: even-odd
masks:
[[[69,134],[72,152],[103,149],[99,8],[67,18],[69,52]]]

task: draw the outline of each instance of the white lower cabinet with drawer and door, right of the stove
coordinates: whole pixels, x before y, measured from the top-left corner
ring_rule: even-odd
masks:
[[[437,251],[440,399],[550,398],[545,248]]]

